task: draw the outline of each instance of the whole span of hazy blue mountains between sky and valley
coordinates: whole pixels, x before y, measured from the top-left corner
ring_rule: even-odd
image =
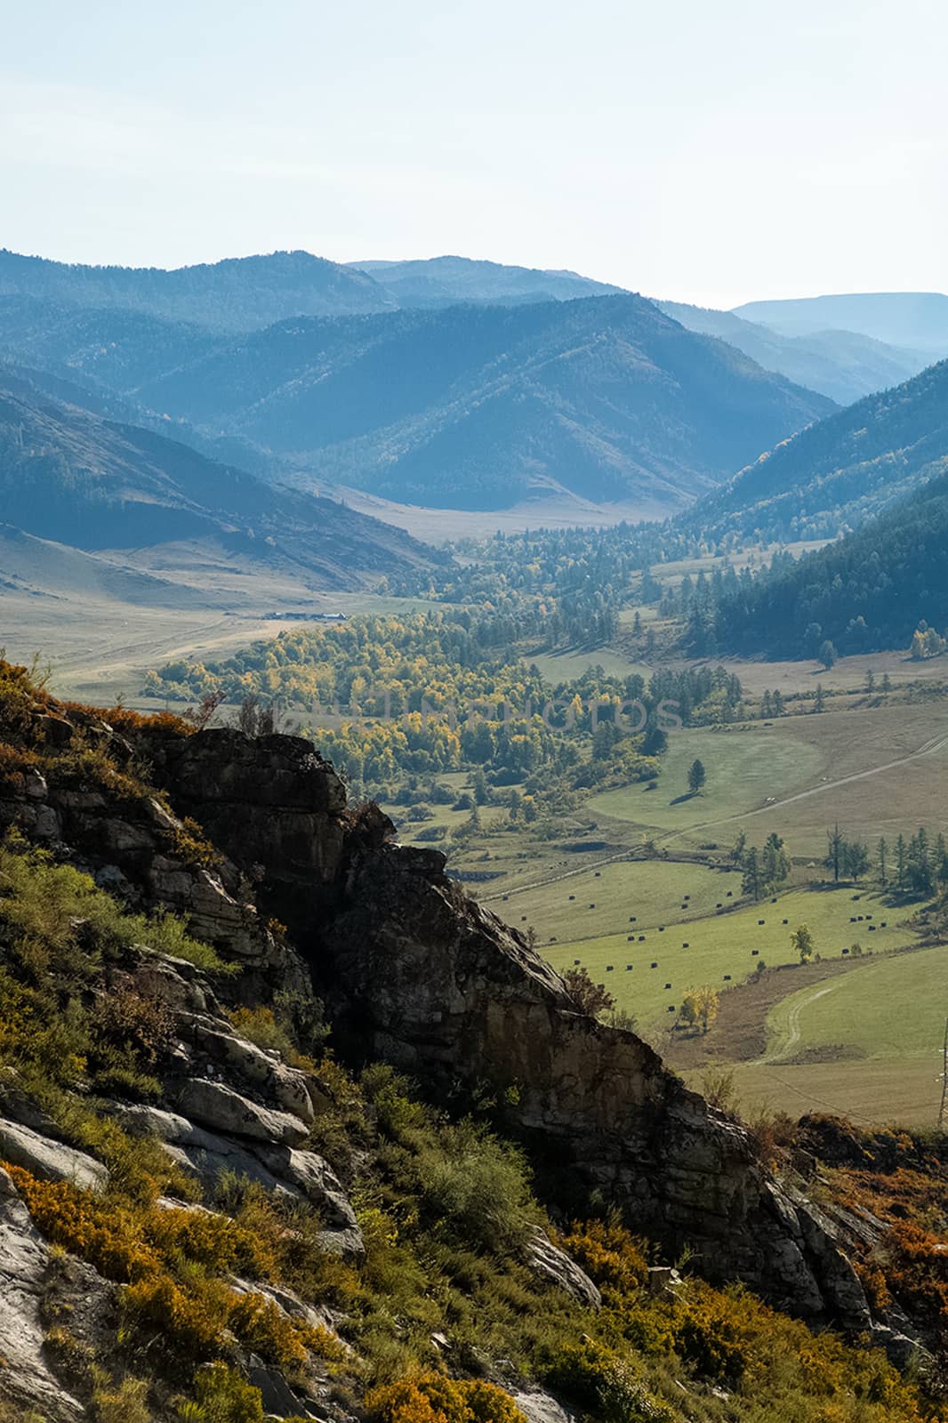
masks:
[[[942,303],[713,312],[461,258],[159,272],[0,253],[0,576],[23,589],[31,559],[58,559],[110,596],[172,603],[155,549],[327,589],[440,558],[346,490],[538,518],[548,498],[585,519],[679,511],[717,541],[897,528],[948,474],[948,361],[904,379],[948,344]],[[867,384],[885,388],[850,403]]]

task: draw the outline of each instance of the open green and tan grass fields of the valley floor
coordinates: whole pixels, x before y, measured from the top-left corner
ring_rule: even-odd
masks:
[[[424,606],[316,593],[289,576],[255,583],[235,575],[225,610],[219,591],[205,598],[201,579],[189,576],[195,606],[182,608],[131,606],[78,588],[56,598],[7,589],[0,643],[16,660],[38,653],[51,662],[60,694],[157,709],[141,694],[147,667],[226,656],[297,628],[285,613]],[[653,670],[622,639],[530,660],[551,683],[591,666],[615,676]],[[823,861],[827,827],[837,822],[870,848],[918,825],[932,838],[948,834],[944,660],[880,653],[820,672],[766,662],[734,662],[729,670],[752,696],[781,687],[803,700],[774,721],[673,731],[655,790],[639,781],[589,793],[552,838],[512,827],[502,804],[481,808],[481,828],[464,844],[451,837],[467,810],[434,804],[426,821],[413,822],[404,807],[384,808],[406,842],[430,842],[433,827],[443,828],[465,889],[528,931],[555,968],[579,963],[606,983],[616,1006],[689,1081],[699,1084],[709,1069],[733,1070],[733,1091],[750,1113],[767,1104],[794,1116],[816,1109],[931,1126],[941,1099],[948,949],[920,949],[918,905],[881,896],[871,877],[864,887],[827,885]],[[877,686],[888,675],[895,686],[914,682],[918,694],[891,702],[867,694],[870,670]],[[807,697],[817,683],[827,710],[814,716]],[[695,758],[707,784],[688,795]],[[470,784],[465,773],[438,778],[455,795]],[[762,844],[771,831],[786,838],[793,872],[776,902],[754,905],[742,896],[730,847],[740,832]],[[790,941],[801,924],[821,959],[804,968],[794,966]],[[767,972],[757,978],[760,963]],[[707,1037],[672,1032],[683,993],[705,985],[722,1005]]]

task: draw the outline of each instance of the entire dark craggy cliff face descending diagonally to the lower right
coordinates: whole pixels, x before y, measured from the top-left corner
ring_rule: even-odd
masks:
[[[713,1279],[867,1328],[834,1228],[769,1178],[746,1133],[688,1091],[635,1035],[578,1013],[559,976],[470,901],[438,851],[399,847],[344,808],[332,767],[292,737],[192,737],[165,758],[177,808],[252,872],[290,925],[337,1032],[444,1090],[512,1089],[511,1126]]]

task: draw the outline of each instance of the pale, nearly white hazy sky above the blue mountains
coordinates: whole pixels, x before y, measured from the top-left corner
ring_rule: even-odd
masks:
[[[0,0],[0,245],[948,289],[944,0]]]

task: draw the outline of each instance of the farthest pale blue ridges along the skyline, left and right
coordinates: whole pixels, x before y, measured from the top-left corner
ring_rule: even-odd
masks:
[[[458,303],[514,306],[619,292],[575,272],[461,256],[340,265],[309,252],[273,252],[165,272],[70,266],[0,252],[0,300],[154,316],[215,334],[251,332],[296,316]],[[898,384],[948,356],[948,297],[938,295],[817,297],[750,303],[736,312],[658,305],[689,330],[719,336],[766,370],[838,404]]]

